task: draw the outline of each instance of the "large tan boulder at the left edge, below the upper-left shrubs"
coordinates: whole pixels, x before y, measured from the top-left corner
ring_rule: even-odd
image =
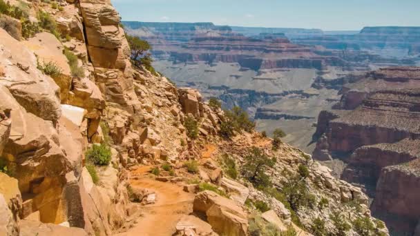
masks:
[[[42,119],[57,121],[61,116],[59,87],[37,69],[37,58],[23,44],[0,29],[0,67],[6,86],[27,112]]]

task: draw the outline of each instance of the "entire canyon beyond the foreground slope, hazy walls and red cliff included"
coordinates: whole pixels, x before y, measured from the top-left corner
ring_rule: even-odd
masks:
[[[363,188],[391,235],[420,234],[419,29],[360,32],[124,22],[182,86],[240,106]],[[181,27],[182,26],[182,27]]]

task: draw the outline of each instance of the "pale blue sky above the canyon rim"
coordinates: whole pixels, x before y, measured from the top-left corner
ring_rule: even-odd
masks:
[[[420,0],[111,0],[125,21],[323,30],[420,26]]]

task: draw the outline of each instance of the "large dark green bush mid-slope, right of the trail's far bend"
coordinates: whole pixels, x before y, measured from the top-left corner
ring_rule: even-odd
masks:
[[[271,186],[271,179],[266,174],[267,168],[274,166],[273,159],[269,158],[260,148],[251,148],[245,156],[242,166],[242,175],[256,188]]]

